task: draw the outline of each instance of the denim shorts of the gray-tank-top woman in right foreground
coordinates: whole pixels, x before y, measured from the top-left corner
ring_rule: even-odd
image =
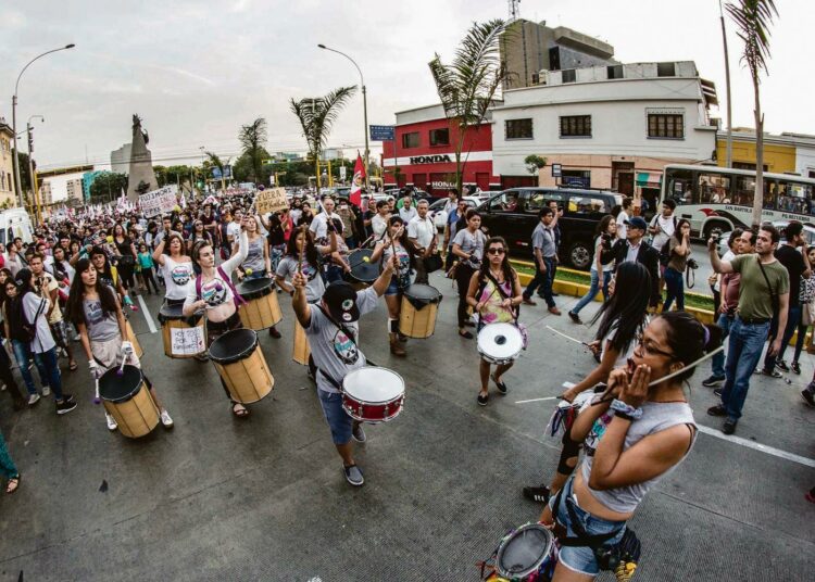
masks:
[[[578,467],[578,470],[579,467]],[[615,530],[619,530],[617,534],[607,540],[603,545],[612,546],[619,543],[623,539],[623,534],[626,531],[625,521],[609,521],[607,519],[601,519],[594,517],[588,511],[580,509],[573,497],[573,485],[575,478],[570,477],[566,484],[563,486],[563,495],[553,495],[549,501],[549,507],[552,509],[552,516],[557,520],[559,523],[564,526],[567,530],[569,537],[576,535],[575,530],[572,529],[569,511],[566,509],[566,504],[569,504],[574,509],[575,516],[580,521],[584,531],[588,535],[601,535],[604,533],[611,533]],[[560,507],[555,508],[554,502],[560,499]],[[579,501],[579,499],[578,499]],[[563,564],[569,570],[579,572],[586,575],[597,575],[600,573],[600,567],[598,566],[597,558],[594,557],[594,551],[590,547],[579,546],[565,546],[561,547],[559,561]]]

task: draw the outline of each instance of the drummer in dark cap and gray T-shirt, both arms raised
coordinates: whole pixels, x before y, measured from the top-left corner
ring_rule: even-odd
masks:
[[[364,484],[365,480],[354,463],[351,439],[364,443],[365,432],[342,407],[340,389],[347,374],[365,366],[365,355],[359,345],[358,320],[376,308],[376,300],[390,286],[396,262],[396,258],[387,262],[374,284],[359,293],[346,281],[333,282],[326,288],[319,304],[315,305],[310,305],[306,300],[306,277],[296,273],[291,281],[294,286],[294,314],[309,337],[317,367],[317,395],[323,415],[331,430],[337,453],[342,457],[346,480],[354,486]]]

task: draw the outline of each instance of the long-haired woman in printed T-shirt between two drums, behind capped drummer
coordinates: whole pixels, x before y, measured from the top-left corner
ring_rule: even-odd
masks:
[[[390,353],[394,356],[406,355],[399,337],[399,312],[402,308],[402,293],[411,286],[411,269],[416,264],[417,255],[415,244],[408,238],[404,222],[399,215],[391,216],[385,238],[376,243],[371,254],[371,262],[375,263],[381,258],[384,265],[390,263],[392,256],[396,256],[399,262],[399,269],[393,274],[385,291],[385,303],[388,305]]]

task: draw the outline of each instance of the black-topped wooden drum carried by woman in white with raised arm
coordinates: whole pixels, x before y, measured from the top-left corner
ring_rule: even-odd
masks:
[[[254,330],[233,329],[218,337],[210,345],[210,359],[235,402],[258,402],[275,385]]]

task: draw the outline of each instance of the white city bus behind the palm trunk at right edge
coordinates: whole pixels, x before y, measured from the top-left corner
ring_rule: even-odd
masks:
[[[693,237],[711,230],[749,227],[755,193],[755,170],[669,164],[662,177],[660,201],[676,202],[677,218],[690,220]],[[762,222],[800,220],[815,226],[815,179],[764,174]],[[657,211],[659,212],[659,211]]]

